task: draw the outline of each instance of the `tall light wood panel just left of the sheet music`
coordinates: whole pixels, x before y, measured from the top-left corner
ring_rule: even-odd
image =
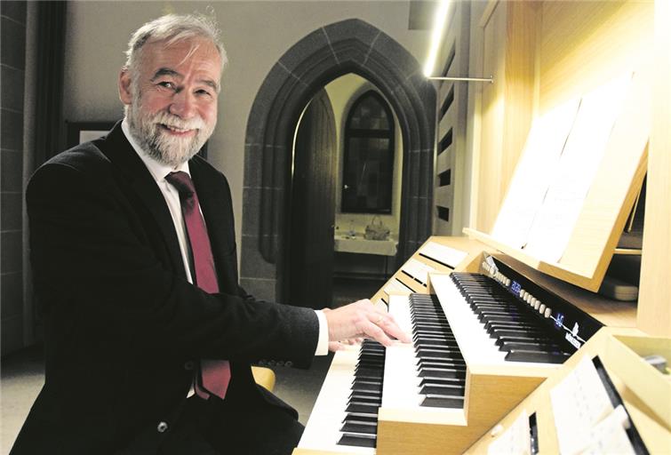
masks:
[[[479,230],[493,226],[535,112],[539,14],[536,2],[500,2],[484,25],[483,74],[494,83],[482,87]]]

